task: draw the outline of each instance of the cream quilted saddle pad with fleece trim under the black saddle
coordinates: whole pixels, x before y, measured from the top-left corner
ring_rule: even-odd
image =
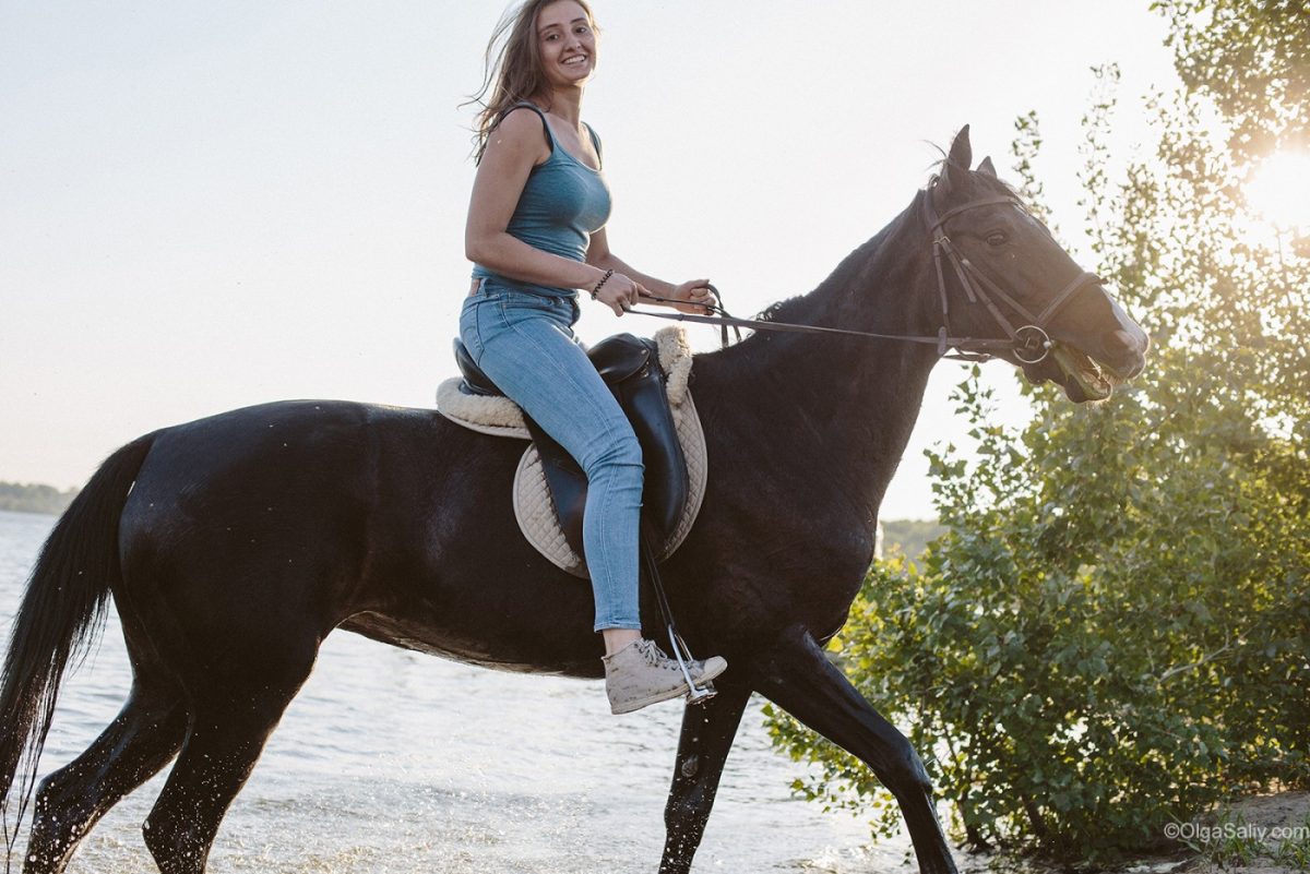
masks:
[[[677,440],[683,445],[683,455],[686,458],[686,475],[690,485],[686,509],[683,512],[677,529],[668,538],[668,542],[656,550],[656,559],[664,560],[683,544],[701,512],[709,464],[705,451],[705,432],[701,429],[701,419],[696,412],[696,404],[692,403],[692,393],[688,387],[688,378],[692,373],[692,349],[686,343],[686,334],[681,326],[672,326],[659,331],[655,340],[659,344],[660,366],[668,374],[669,411],[673,413],[673,425],[677,429]],[[461,379],[457,377],[447,379],[438,389],[436,408],[443,416],[485,434],[531,440],[528,427],[523,421],[523,411],[516,403],[504,396],[466,395],[460,391],[460,382]],[[555,567],[576,577],[588,577],[586,561],[572,551],[565,539],[563,529],[559,527],[559,519],[555,517],[554,504],[550,500],[550,487],[541,470],[541,458],[536,446],[531,444],[523,453],[519,470],[514,476],[514,514],[519,519],[523,535],[541,555],[550,559]]]

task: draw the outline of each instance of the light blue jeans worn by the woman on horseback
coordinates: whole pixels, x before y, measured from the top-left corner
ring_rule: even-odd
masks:
[[[464,301],[460,339],[491,381],[587,474],[583,551],[595,629],[641,628],[637,539],[642,449],[574,336],[578,304],[483,281]]]

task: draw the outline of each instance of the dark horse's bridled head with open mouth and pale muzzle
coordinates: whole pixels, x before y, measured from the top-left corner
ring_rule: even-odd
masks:
[[[971,164],[965,126],[925,195],[948,332],[981,340],[975,348],[1034,383],[1057,382],[1074,402],[1108,398],[1145,366],[1146,332],[997,179],[990,158]]]

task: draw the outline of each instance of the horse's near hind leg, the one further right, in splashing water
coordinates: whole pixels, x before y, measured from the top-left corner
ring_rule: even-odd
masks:
[[[253,646],[187,682],[191,730],[144,826],[164,874],[204,871],[228,806],[313,667],[318,641],[301,644]]]

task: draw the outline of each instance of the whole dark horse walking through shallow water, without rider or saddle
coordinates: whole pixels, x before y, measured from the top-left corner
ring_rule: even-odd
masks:
[[[969,166],[965,128],[900,216],[766,318],[933,336],[948,313],[952,335],[1020,349],[1024,338],[1011,344],[1000,323],[1026,321],[1064,288],[1044,326],[1061,364],[1000,355],[1074,400],[1102,378],[1091,358],[1120,378],[1140,372],[1142,330],[1017,208],[990,161]],[[943,245],[971,267],[947,258],[939,276]],[[971,304],[969,271],[1007,296]],[[955,870],[920,758],[823,653],[869,568],[879,502],[939,357],[930,343],[762,331],[697,356],[711,478],[664,584],[688,642],[730,669],[718,697],[684,718],[660,871],[690,870],[752,692],[866,761],[900,802],[920,869]],[[60,676],[110,594],[135,680],[105,733],[41,784],[24,870],[63,871],[96,820],[177,756],[145,844],[161,871],[203,871],[333,629],[502,670],[599,676],[591,589],[517,531],[508,495],[520,451],[431,410],[290,402],[165,428],[111,455],[50,535],[14,623],[0,790],[17,776],[16,797],[30,798]],[[643,615],[655,637],[659,611]]]

